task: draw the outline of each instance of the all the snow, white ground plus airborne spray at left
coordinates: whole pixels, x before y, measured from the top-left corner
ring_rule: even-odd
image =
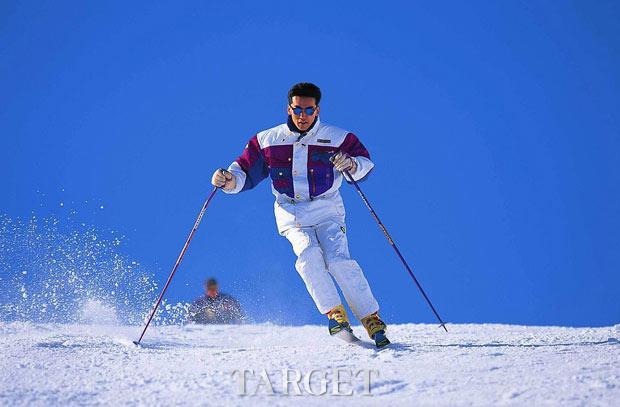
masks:
[[[378,352],[326,326],[182,325],[164,300],[136,347],[157,279],[75,213],[0,215],[0,405],[620,405],[620,325],[390,325]]]

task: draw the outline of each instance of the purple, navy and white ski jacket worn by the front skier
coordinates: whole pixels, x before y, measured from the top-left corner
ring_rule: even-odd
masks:
[[[357,171],[352,174],[356,181],[372,170],[368,150],[353,133],[322,124],[318,118],[303,136],[286,123],[261,131],[228,167],[237,184],[224,192],[246,191],[270,177],[280,234],[291,227],[314,226],[328,219],[344,225],[345,210],[338,192],[343,176],[330,161],[339,151],[356,161]]]

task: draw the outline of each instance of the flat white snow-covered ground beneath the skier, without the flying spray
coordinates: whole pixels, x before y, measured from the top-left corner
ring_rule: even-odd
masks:
[[[100,314],[95,325],[0,322],[0,404],[620,405],[620,325],[392,325],[395,343],[380,352],[324,326],[170,325],[136,347],[140,326]],[[337,369],[352,395],[333,394]],[[254,371],[245,395],[243,370]],[[301,395],[287,394],[286,374],[302,377]],[[319,393],[322,375],[327,393],[311,394],[306,379]]]

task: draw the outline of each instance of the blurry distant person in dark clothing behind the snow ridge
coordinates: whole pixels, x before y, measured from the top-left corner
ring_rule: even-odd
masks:
[[[189,308],[189,320],[197,324],[238,324],[244,319],[241,304],[233,296],[220,292],[214,278],[204,283],[205,295]]]

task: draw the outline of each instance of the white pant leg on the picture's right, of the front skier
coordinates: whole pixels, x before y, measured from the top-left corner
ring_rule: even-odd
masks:
[[[336,279],[351,311],[361,320],[379,311],[359,264],[351,259],[344,222],[329,221],[316,227],[327,269]]]

